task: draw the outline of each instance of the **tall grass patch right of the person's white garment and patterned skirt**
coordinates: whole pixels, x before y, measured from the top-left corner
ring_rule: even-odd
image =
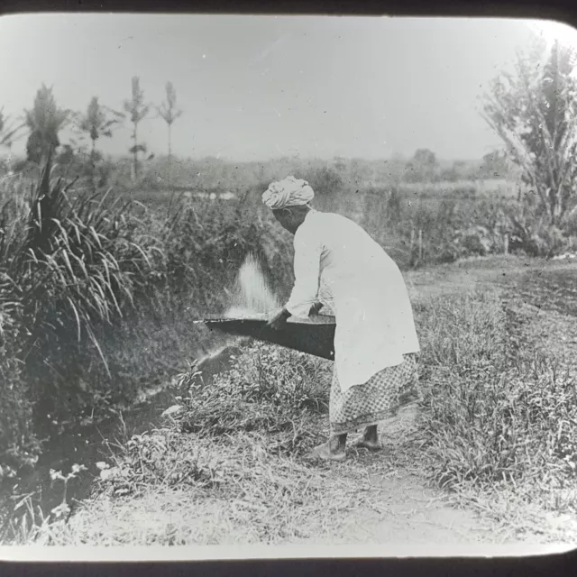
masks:
[[[574,507],[574,376],[530,347],[519,353],[511,313],[495,294],[437,298],[418,314],[422,424],[435,482],[454,490],[524,487],[517,493],[529,500]]]

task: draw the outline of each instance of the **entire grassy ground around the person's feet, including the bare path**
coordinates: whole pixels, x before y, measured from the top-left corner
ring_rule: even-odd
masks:
[[[423,398],[381,428],[382,453],[308,462],[328,433],[331,367],[251,344],[210,386],[182,375],[179,408],[110,446],[91,499],[69,518],[14,527],[15,540],[572,543],[577,271],[526,265],[408,273]]]

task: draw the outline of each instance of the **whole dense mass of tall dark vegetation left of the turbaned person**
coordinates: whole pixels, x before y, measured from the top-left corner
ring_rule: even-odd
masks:
[[[66,187],[50,166],[31,191],[1,191],[3,294],[14,308],[15,358],[25,359],[9,378],[27,391],[23,413],[33,408],[43,427],[177,371],[199,336],[191,321],[222,310],[248,252],[289,285],[285,239],[269,234],[270,215],[250,202],[222,210],[185,200],[154,213]]]

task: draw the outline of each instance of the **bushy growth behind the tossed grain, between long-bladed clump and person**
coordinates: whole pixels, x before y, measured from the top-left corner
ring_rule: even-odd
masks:
[[[134,206],[138,243],[154,239],[163,256],[151,262],[122,322],[100,341],[118,389],[157,387],[224,344],[194,321],[234,305],[236,277],[249,255],[275,293],[291,286],[287,239],[251,193],[234,202],[181,196],[156,210]]]

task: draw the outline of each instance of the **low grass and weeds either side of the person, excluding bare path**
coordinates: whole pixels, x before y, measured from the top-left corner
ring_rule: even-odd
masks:
[[[417,462],[417,474],[459,502],[482,507],[517,536],[527,527],[535,534],[547,511],[577,512],[575,367],[527,342],[506,302],[495,291],[469,291],[417,304],[422,400],[413,433],[403,430],[384,460],[351,450],[342,464],[308,462],[310,448],[328,435],[330,363],[252,344],[210,387],[198,384],[194,370],[184,373],[179,411],[166,426],[111,446],[110,458],[98,463],[95,496],[68,522],[60,509],[44,525],[29,513],[28,533],[14,527],[13,538],[334,542],[353,511],[379,510],[378,490],[360,490],[367,474]],[[184,502],[194,513],[178,513]],[[126,524],[134,508],[146,508],[151,523]],[[545,540],[558,537],[541,527]]]

